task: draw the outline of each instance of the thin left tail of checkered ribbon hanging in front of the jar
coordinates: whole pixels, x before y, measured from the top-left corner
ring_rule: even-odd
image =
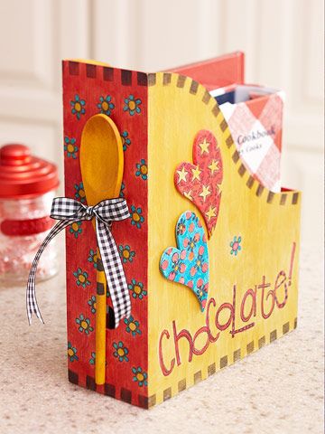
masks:
[[[79,221],[80,219],[78,219]],[[31,325],[32,324],[32,314],[35,314],[42,323],[44,323],[42,319],[42,315],[40,312],[40,309],[37,304],[36,299],[36,291],[35,291],[35,277],[36,277],[36,271],[38,262],[42,256],[43,250],[45,250],[46,246],[49,244],[49,242],[60,232],[62,229],[69,226],[71,223],[75,222],[74,220],[67,221],[60,221],[53,226],[49,234],[46,236],[44,241],[42,242],[40,249],[37,251],[35,258],[32,261],[32,267],[30,269],[30,273],[28,276],[27,281],[27,288],[26,288],[26,309],[27,309],[27,316],[28,316],[28,322]]]

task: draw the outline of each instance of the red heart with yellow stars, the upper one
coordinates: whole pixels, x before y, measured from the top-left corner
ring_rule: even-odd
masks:
[[[222,158],[217,139],[211,131],[201,129],[194,138],[193,164],[183,162],[176,167],[174,184],[199,209],[209,238],[218,221],[222,178]]]

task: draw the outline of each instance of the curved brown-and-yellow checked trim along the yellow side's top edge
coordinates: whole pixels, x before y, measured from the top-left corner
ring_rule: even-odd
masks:
[[[255,195],[264,200],[266,203],[278,205],[296,205],[301,200],[301,193],[297,191],[283,191],[282,193],[273,193],[267,190],[262,184],[250,175],[249,171],[243,165],[242,160],[237,152],[233,138],[231,137],[228,124],[222,115],[219,116],[220,109],[215,99],[211,97],[209,91],[206,90],[198,81],[190,79],[184,75],[179,75],[174,72],[157,72],[148,74],[148,86],[176,86],[179,89],[188,91],[190,95],[200,99],[200,102],[208,106],[213,116],[217,118],[218,127],[223,134],[226,134],[226,145],[228,146],[230,157],[237,167],[238,175],[243,178],[247,188],[255,192]]]

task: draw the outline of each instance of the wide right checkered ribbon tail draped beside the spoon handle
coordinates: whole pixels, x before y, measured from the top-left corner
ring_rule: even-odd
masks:
[[[120,320],[131,314],[131,300],[127,288],[125,272],[112,232],[106,223],[96,219],[98,248],[107,278],[107,288],[112,299],[115,315],[115,328]]]

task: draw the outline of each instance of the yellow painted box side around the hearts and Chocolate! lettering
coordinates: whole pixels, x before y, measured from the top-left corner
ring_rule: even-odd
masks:
[[[148,394],[151,406],[295,327],[301,194],[271,193],[254,181],[241,163],[215,100],[198,83],[169,73],[152,74],[149,83]],[[206,324],[206,312],[200,312],[197,299],[189,288],[163,278],[159,261],[164,249],[176,246],[175,223],[181,212],[196,212],[202,221],[199,210],[177,192],[173,182],[176,166],[183,161],[192,162],[191,145],[200,129],[209,129],[217,137],[224,170],[217,227],[208,241],[209,298],[213,297],[216,302],[216,306],[210,306],[209,316],[213,334],[218,332],[213,322],[217,309],[223,303],[233,301],[234,285],[239,309],[246,291],[260,285],[263,276],[274,285],[281,270],[288,275],[292,246],[295,246],[295,253],[289,297],[283,308],[274,308],[273,314],[264,319],[258,289],[254,327],[235,337],[229,333],[231,328],[220,332],[217,342],[209,343],[204,354],[194,354],[190,362],[189,344],[181,338],[181,364],[178,365],[172,321],[175,321],[177,332],[187,329],[193,336]],[[237,257],[230,254],[229,243],[234,236],[242,239],[242,250]],[[283,298],[283,288],[279,297]],[[265,306],[269,308],[269,304]],[[246,325],[237,313],[236,316],[236,327]],[[227,319],[227,316],[220,318],[224,322]],[[163,375],[159,361],[159,340],[163,330],[169,334],[169,337],[163,335],[163,360],[168,368],[174,363],[169,375]],[[206,340],[202,333],[196,346],[201,349]],[[234,378],[234,382],[239,381]]]

